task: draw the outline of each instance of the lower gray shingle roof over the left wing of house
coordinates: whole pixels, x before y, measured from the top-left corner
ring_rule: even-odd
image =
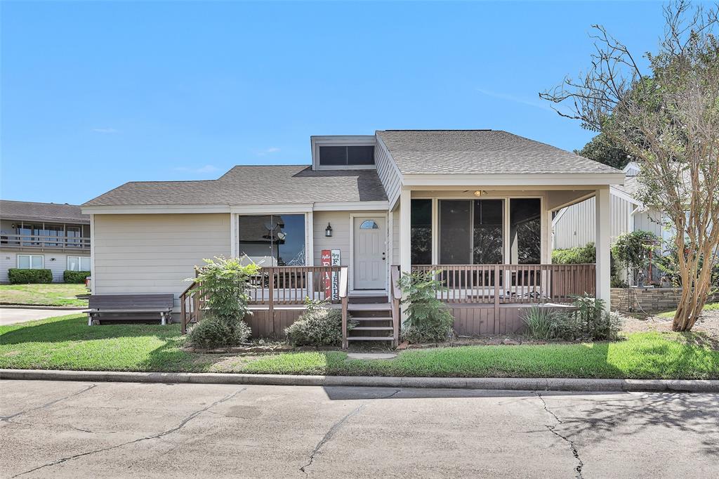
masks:
[[[307,165],[235,166],[217,180],[133,181],[84,206],[385,201],[375,170],[313,171]]]

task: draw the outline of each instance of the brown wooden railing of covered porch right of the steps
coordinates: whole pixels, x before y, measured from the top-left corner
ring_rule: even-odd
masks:
[[[436,271],[452,304],[571,303],[572,296],[594,295],[595,265],[413,265]]]

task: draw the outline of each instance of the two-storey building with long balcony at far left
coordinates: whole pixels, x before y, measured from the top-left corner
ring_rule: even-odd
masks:
[[[89,271],[90,216],[72,204],[0,200],[0,283],[11,268]]]

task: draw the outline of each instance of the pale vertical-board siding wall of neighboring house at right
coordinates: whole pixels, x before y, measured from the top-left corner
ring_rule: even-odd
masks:
[[[611,238],[628,232],[633,227],[631,212],[634,205],[626,199],[615,195],[610,196]],[[554,224],[554,250],[584,246],[595,240],[595,199],[590,198],[572,206]]]

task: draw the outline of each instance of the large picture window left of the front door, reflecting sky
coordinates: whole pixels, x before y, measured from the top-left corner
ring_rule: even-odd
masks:
[[[239,255],[263,266],[305,264],[305,215],[239,216]]]

